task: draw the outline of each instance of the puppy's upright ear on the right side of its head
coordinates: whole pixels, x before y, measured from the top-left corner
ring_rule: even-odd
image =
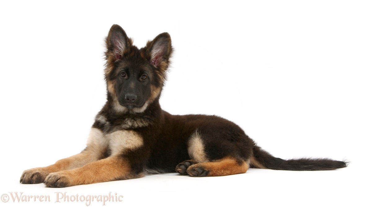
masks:
[[[157,35],[155,39],[147,42],[146,47],[149,51],[151,65],[167,69],[173,50],[169,33],[164,32]]]

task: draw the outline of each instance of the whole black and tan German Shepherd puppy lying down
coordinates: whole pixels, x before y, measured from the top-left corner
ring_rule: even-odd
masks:
[[[79,154],[23,172],[20,183],[46,187],[99,183],[174,172],[193,177],[245,173],[249,167],[314,171],[346,167],[331,159],[283,160],[218,116],[171,115],[159,99],[173,51],[168,33],[138,49],[113,25],[105,39],[107,102]]]

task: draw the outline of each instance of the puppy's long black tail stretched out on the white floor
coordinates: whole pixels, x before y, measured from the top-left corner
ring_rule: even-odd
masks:
[[[258,146],[254,146],[250,167],[292,171],[314,171],[344,168],[347,164],[348,163],[344,161],[337,161],[328,158],[299,158],[283,160],[270,155],[270,153],[264,151]]]

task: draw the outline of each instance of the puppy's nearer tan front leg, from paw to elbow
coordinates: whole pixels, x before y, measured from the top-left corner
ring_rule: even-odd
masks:
[[[46,187],[63,188],[73,185],[100,183],[143,177],[143,173],[134,173],[122,156],[111,156],[81,168],[50,173],[44,181]]]

